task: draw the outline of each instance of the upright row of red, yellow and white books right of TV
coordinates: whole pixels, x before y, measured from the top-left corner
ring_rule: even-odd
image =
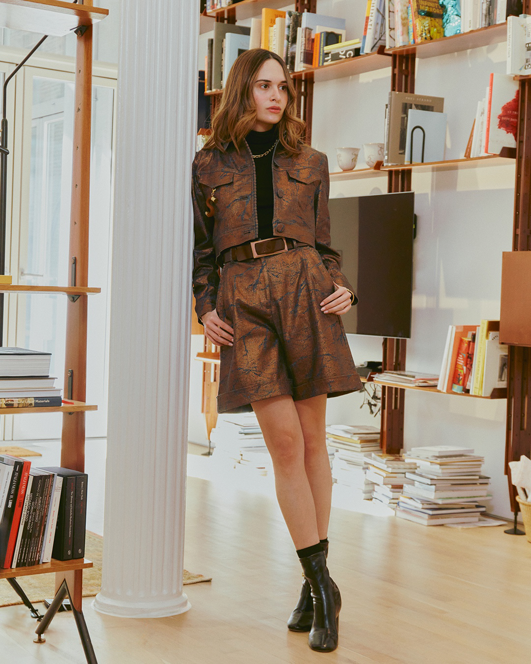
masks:
[[[437,388],[491,396],[496,388],[506,388],[508,348],[500,343],[500,321],[481,325],[450,325]]]

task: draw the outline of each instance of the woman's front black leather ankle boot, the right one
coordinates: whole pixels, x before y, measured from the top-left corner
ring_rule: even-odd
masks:
[[[328,653],[337,648],[341,595],[330,578],[325,552],[301,558],[313,598],[313,624],[308,637],[312,650]]]

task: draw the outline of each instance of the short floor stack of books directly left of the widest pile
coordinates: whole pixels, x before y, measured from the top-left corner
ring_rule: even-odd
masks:
[[[372,501],[383,503],[395,509],[404,485],[412,483],[406,477],[408,471],[416,469],[414,461],[408,461],[400,454],[375,454],[365,458],[366,480],[372,483]]]

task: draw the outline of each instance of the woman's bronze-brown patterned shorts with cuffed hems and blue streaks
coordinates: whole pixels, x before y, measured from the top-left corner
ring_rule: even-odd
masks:
[[[218,413],[248,412],[280,394],[362,389],[341,317],[321,311],[333,291],[311,246],[223,266],[216,311],[234,328],[234,345],[220,349]]]

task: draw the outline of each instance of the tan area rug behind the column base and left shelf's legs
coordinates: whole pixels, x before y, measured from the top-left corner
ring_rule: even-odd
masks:
[[[85,557],[92,560],[93,567],[83,570],[83,596],[94,597],[102,587],[102,554],[103,537],[87,531],[85,542]],[[34,604],[49,600],[54,596],[55,577],[53,574],[35,574],[34,576],[19,576],[17,581]],[[212,581],[202,574],[192,574],[183,570],[183,585]],[[6,580],[0,580],[0,606],[22,604],[17,593]]]

